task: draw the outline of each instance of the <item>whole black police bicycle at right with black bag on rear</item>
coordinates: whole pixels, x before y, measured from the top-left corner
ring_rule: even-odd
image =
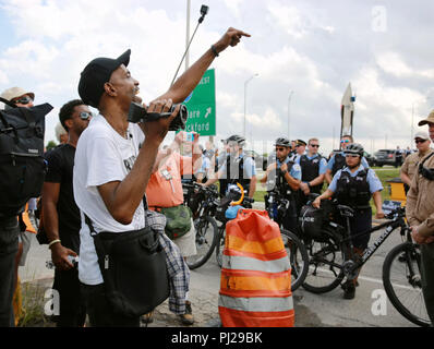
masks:
[[[314,293],[323,293],[341,285],[345,278],[353,280],[358,270],[391,232],[399,229],[403,242],[386,255],[383,264],[384,289],[391,304],[402,316],[419,326],[430,326],[431,322],[422,294],[420,249],[412,242],[410,229],[405,221],[405,208],[399,207],[391,210],[386,215],[388,221],[352,236],[354,238],[385,229],[377,240],[363,251],[363,255],[358,255],[353,252],[350,236],[350,218],[353,217],[354,210],[333,201],[323,201],[322,206],[323,203],[326,204],[323,208],[326,217],[320,216],[321,210],[316,210],[318,216],[308,217],[310,219],[303,218],[308,210],[304,213],[302,210],[300,216],[301,230],[304,233],[309,234],[310,229],[318,230],[318,222],[321,224],[321,236],[312,238],[311,240],[314,242],[308,246],[310,267],[303,288]],[[329,209],[330,206],[333,209]],[[339,215],[345,224],[329,220],[329,215]],[[321,222],[322,220],[323,222]],[[310,234],[315,233],[311,232]]]

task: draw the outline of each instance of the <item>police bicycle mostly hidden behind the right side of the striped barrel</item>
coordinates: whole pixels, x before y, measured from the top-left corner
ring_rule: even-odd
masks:
[[[281,238],[291,264],[291,290],[303,284],[309,269],[309,255],[304,243],[291,231],[282,228],[282,220],[288,212],[290,201],[285,198],[275,188],[264,197],[265,209],[269,218],[279,225]]]

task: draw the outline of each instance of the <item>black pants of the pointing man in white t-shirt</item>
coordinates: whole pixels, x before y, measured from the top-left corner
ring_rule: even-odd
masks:
[[[92,327],[140,327],[138,316],[126,317],[113,313],[107,302],[104,284],[81,284],[81,289]]]

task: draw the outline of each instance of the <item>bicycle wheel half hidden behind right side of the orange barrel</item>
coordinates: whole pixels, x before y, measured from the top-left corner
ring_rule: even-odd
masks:
[[[281,240],[291,264],[291,290],[303,284],[309,269],[309,255],[303,242],[291,231],[280,229]]]

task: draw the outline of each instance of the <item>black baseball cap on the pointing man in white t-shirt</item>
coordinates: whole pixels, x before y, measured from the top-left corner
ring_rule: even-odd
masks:
[[[121,64],[130,63],[131,49],[117,59],[99,57],[92,60],[83,70],[79,82],[79,95],[85,105],[98,108],[104,94],[104,84]]]

